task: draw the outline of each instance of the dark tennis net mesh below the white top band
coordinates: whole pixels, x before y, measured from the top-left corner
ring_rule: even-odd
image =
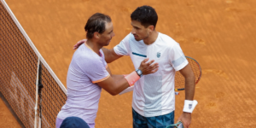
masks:
[[[0,91],[22,124],[34,127],[38,55],[0,1]],[[67,96],[42,62],[42,127],[55,127]],[[39,111],[38,111],[39,112]]]

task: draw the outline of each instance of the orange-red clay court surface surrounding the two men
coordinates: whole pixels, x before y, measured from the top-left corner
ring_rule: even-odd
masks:
[[[73,45],[85,37],[90,15],[100,12],[113,20],[113,48],[131,32],[131,12],[138,6],[156,9],[158,32],[175,39],[185,55],[201,64],[196,85],[199,103],[192,128],[241,128],[256,125],[256,1],[255,0],[6,0],[33,44],[66,85]],[[1,42],[2,44],[2,42]],[[18,42],[17,42],[18,44]],[[113,74],[131,73],[129,57],[108,64]],[[111,96],[102,90],[96,128],[132,127],[132,93]],[[254,100],[253,100],[254,99]],[[184,93],[176,98],[176,120]],[[0,101],[0,127],[20,127]]]

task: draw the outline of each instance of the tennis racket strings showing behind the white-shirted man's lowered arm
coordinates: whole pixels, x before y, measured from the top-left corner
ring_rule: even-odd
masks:
[[[201,79],[201,67],[195,59],[186,56],[186,59],[189,61],[189,65],[192,68],[192,71],[195,75],[195,84]],[[185,78],[180,72],[175,73],[175,89],[174,90],[185,90]]]

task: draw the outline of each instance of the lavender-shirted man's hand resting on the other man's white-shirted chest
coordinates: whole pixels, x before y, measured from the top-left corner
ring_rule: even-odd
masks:
[[[138,68],[138,69],[140,69],[143,72],[143,75],[147,75],[149,73],[157,72],[158,71],[158,67],[159,67],[158,63],[156,62],[156,63],[152,64],[154,62],[154,60],[149,61],[148,63],[146,63],[147,61],[148,61],[148,58],[143,60],[141,62],[140,67]]]

